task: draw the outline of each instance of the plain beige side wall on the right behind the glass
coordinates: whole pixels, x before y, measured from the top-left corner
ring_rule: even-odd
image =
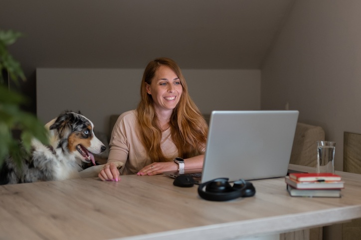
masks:
[[[300,111],[337,141],[361,133],[361,1],[297,0],[262,68],[261,108]]]

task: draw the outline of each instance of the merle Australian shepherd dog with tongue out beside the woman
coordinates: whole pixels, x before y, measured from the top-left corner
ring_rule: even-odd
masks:
[[[80,112],[65,111],[45,128],[49,145],[33,138],[31,155],[21,166],[7,158],[0,169],[0,185],[80,178],[82,164],[96,165],[93,154],[106,149],[94,135],[93,123]]]

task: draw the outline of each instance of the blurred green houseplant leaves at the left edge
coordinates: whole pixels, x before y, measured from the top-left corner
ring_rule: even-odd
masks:
[[[21,158],[30,153],[33,137],[47,143],[47,131],[43,124],[34,115],[20,109],[27,102],[26,98],[5,86],[6,75],[7,81],[15,84],[25,81],[20,64],[7,50],[20,36],[22,34],[19,32],[0,29],[0,166],[7,155],[20,163]],[[14,132],[19,132],[19,137]]]

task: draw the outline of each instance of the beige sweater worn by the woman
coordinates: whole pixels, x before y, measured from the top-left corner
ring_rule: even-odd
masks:
[[[123,166],[120,170],[122,175],[136,174],[152,163],[147,150],[138,138],[136,124],[136,111],[125,112],[119,116],[112,131],[108,162],[114,162],[119,167]],[[170,128],[163,132],[161,148],[168,159],[179,156],[178,149],[172,141]]]

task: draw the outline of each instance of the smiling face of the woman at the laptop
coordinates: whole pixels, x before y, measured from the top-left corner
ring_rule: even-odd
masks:
[[[164,111],[172,113],[181,99],[181,80],[172,69],[161,65],[151,84],[147,84],[147,93],[152,95],[158,114],[164,114]]]

